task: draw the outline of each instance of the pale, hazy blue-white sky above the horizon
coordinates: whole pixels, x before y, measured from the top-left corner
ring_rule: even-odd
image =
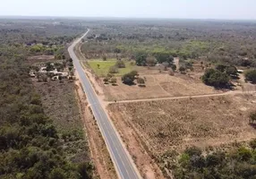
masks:
[[[0,16],[256,20],[256,0],[0,0]]]

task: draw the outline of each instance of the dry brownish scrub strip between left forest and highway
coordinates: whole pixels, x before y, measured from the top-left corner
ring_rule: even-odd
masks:
[[[45,113],[53,120],[57,130],[67,136],[77,136],[77,139],[74,137],[63,144],[69,158],[75,162],[90,160],[90,149],[88,141],[84,138],[74,84],[68,81],[34,81],[34,86],[42,97]]]

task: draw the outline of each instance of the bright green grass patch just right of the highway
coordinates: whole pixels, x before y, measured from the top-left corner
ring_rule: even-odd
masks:
[[[115,59],[107,59],[107,61],[102,60],[89,60],[88,64],[90,68],[100,77],[107,76],[109,68],[115,65]],[[118,73],[115,73],[115,76],[122,76],[125,73],[131,72],[134,70],[135,65],[131,64],[132,61],[124,61],[125,68],[119,68]],[[99,64],[99,67],[98,67]],[[134,63],[133,63],[134,64]]]

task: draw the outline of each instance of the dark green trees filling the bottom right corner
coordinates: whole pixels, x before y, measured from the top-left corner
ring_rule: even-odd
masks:
[[[255,168],[255,143],[228,151],[217,150],[203,154],[196,147],[185,149],[172,166],[175,178],[253,178]]]

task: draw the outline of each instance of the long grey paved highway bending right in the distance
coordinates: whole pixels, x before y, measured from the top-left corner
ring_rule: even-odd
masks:
[[[90,30],[88,30],[81,38],[84,38],[89,31]],[[88,77],[83,72],[78,57],[73,51],[73,48],[81,41],[81,38],[78,38],[73,42],[68,48],[68,52],[71,58],[73,58],[73,65],[78,72],[83,91],[86,93],[93,115],[98,122],[99,130],[107,144],[107,149],[114,162],[116,173],[119,178],[122,179],[141,179],[141,175],[136,166],[134,166],[131,156],[127,150],[124,149],[120,137],[117,136],[118,134],[115,132],[114,126],[111,124],[105,110],[101,107],[98,97],[93,90]]]

